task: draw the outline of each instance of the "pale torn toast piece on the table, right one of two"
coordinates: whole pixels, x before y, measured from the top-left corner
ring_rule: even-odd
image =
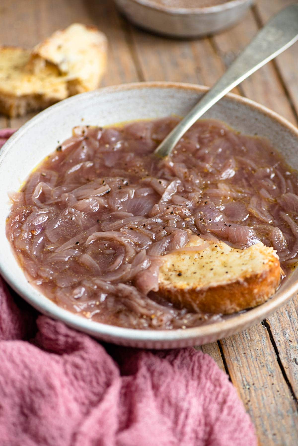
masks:
[[[36,74],[55,66],[66,76],[70,94],[95,90],[106,69],[107,39],[91,26],[74,23],[56,31],[32,50],[29,68]]]

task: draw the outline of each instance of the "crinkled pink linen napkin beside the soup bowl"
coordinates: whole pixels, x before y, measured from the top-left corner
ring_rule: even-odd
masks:
[[[0,131],[0,141],[7,137]],[[103,346],[38,315],[0,277],[0,445],[255,446],[257,439],[210,356]]]

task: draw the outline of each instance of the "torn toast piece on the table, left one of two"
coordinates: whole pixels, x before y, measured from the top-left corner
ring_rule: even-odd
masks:
[[[10,117],[41,110],[68,96],[55,66],[37,76],[26,68],[29,58],[29,50],[0,47],[0,112]]]

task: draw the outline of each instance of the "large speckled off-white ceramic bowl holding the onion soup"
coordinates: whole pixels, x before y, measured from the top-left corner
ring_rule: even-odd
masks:
[[[206,87],[181,83],[136,83],[108,87],[66,99],[21,127],[0,151],[0,273],[4,279],[42,313],[59,319],[96,338],[145,348],[186,347],[213,342],[259,322],[297,293],[298,269],[266,303],[227,320],[185,330],[134,330],[92,322],[56,306],[27,281],[5,236],[10,210],[8,192],[16,191],[30,171],[55,150],[57,141],[84,124],[110,125],[137,119],[185,115]],[[273,111],[237,95],[227,95],[204,116],[225,121],[250,135],[267,137],[288,163],[298,169],[298,129]]]

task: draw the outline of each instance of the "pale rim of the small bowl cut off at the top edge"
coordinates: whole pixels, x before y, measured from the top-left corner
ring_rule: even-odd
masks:
[[[213,5],[213,6],[203,6],[201,8],[175,8],[168,7],[165,5],[159,5],[152,3],[151,0],[130,0],[133,3],[140,4],[149,9],[154,9],[157,11],[165,12],[167,14],[210,14],[215,12],[223,12],[229,9],[236,8],[242,4],[246,4],[249,2],[253,2],[253,0],[230,0],[222,4]]]

